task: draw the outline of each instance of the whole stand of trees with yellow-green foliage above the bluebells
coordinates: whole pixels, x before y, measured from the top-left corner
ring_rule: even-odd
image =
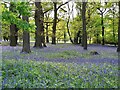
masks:
[[[76,9],[77,14],[74,14]],[[120,2],[2,2],[2,36],[10,46],[23,39],[22,52],[59,41],[80,44],[114,44],[120,51]]]

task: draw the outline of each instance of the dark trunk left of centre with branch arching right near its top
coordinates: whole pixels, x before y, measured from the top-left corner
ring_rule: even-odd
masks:
[[[57,3],[54,2],[54,20],[52,32],[52,44],[56,44],[56,25],[57,25]]]

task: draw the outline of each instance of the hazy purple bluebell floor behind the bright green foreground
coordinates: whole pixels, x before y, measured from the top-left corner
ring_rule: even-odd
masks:
[[[83,50],[83,47],[72,44],[47,44],[47,47],[36,49],[31,46],[30,54],[20,53],[21,46],[2,47],[2,59],[15,60],[35,60],[35,61],[49,61],[49,62],[65,62],[65,63],[110,63],[118,64],[117,47],[88,45],[88,50]],[[99,55],[91,55],[91,51],[97,51]]]

